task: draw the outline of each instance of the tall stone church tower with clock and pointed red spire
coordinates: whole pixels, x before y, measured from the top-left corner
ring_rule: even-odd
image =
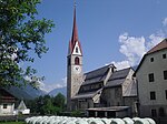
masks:
[[[73,29],[72,37],[69,41],[67,55],[67,108],[75,110],[77,106],[72,102],[73,96],[78,93],[82,83],[82,50],[78,38],[76,22],[76,2],[73,9]]]

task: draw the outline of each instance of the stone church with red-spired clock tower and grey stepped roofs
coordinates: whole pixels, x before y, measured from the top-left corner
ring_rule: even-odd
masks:
[[[67,55],[67,108],[88,116],[124,117],[137,114],[137,84],[132,68],[117,70],[114,64],[82,72],[82,49],[73,10],[73,28]]]

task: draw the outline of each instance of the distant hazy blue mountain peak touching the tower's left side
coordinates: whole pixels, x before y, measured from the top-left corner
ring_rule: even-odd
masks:
[[[67,87],[59,87],[59,89],[55,89],[52,91],[50,91],[48,94],[49,95],[52,95],[52,96],[56,96],[58,93],[61,93],[62,95],[67,95]]]

